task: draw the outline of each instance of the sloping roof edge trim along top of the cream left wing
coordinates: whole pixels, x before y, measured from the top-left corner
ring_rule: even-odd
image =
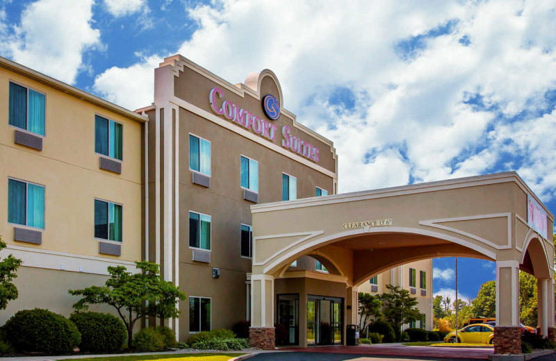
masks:
[[[8,69],[10,70],[10,72],[15,72],[17,74],[26,76],[27,78],[30,78],[33,81],[37,81],[38,83],[42,83],[44,85],[52,87],[56,90],[64,92],[65,94],[74,96],[75,98],[91,103],[94,106],[98,106],[100,108],[104,108],[106,110],[114,112],[117,115],[121,115],[122,117],[126,117],[134,121],[138,121],[139,123],[145,123],[146,121],[149,120],[147,117],[143,117],[142,115],[139,115],[136,112],[133,112],[132,110],[123,108],[121,106],[117,106],[116,104],[111,103],[110,101],[107,101],[105,99],[102,99],[99,96],[85,92],[84,90],[73,87],[72,85],[63,83],[63,81],[58,81],[57,79],[52,78],[51,76],[44,75],[31,68],[25,67],[24,65],[3,58],[1,56],[0,56],[0,67],[3,67],[4,69]]]

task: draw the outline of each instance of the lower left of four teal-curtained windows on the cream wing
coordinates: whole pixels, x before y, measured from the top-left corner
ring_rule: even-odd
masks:
[[[44,228],[44,187],[8,179],[8,223]]]

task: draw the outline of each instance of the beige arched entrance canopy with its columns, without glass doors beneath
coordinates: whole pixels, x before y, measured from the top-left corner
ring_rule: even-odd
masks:
[[[553,276],[553,259],[546,257],[552,244],[539,241],[523,221],[528,198],[534,194],[509,173],[252,206],[252,344],[272,345],[275,278],[288,276],[297,258],[311,255],[335,270],[334,279],[320,281],[343,283],[344,324],[355,324],[357,286],[370,276],[412,260],[457,255],[496,261],[496,351],[520,352],[514,337],[518,270],[530,260],[534,272]],[[543,210],[551,234],[554,216]],[[297,276],[312,287],[311,274]],[[548,334],[554,309],[548,303],[545,308]],[[516,342],[496,346],[507,333]]]

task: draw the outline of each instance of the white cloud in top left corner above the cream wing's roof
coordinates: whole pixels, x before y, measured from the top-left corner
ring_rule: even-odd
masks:
[[[77,74],[85,68],[83,52],[101,47],[100,32],[91,24],[93,2],[31,3],[10,34],[6,29],[0,33],[0,53],[60,81],[75,83]]]

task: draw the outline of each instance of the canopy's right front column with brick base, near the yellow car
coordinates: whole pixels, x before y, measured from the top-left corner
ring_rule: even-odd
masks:
[[[496,262],[495,354],[521,354],[519,326],[519,262]]]

